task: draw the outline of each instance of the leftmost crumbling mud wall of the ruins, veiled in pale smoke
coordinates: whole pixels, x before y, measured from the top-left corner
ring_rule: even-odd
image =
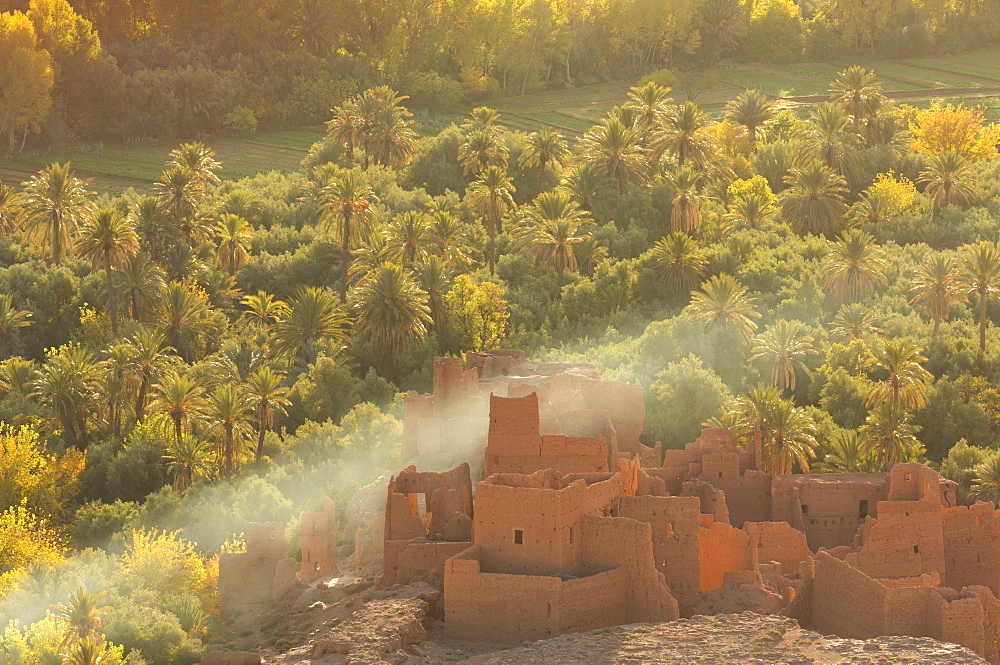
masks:
[[[273,604],[295,586],[299,564],[286,555],[284,522],[250,522],[246,543],[246,552],[219,555],[223,618],[243,607]]]

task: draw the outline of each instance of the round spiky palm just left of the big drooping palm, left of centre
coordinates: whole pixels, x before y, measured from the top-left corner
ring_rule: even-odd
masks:
[[[306,286],[288,303],[288,316],[274,325],[275,349],[306,364],[316,362],[316,343],[346,344],[350,319],[329,289]]]

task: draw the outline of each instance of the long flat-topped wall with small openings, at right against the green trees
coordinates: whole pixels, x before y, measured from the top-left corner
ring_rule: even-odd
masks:
[[[877,516],[889,494],[889,474],[799,474],[774,476],[771,520],[806,534],[809,547],[850,545],[866,517]]]

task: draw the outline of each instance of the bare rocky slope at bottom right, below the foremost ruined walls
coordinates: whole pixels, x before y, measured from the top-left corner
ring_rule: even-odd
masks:
[[[476,656],[466,665],[640,665],[646,663],[986,663],[971,651],[924,637],[827,638],[792,619],[759,614],[699,616],[563,635]]]

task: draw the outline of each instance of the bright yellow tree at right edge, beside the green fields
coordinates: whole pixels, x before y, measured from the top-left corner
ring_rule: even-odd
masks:
[[[1000,127],[985,124],[982,106],[937,104],[927,110],[905,108],[913,149],[931,157],[952,151],[969,161],[989,159],[997,154]]]

